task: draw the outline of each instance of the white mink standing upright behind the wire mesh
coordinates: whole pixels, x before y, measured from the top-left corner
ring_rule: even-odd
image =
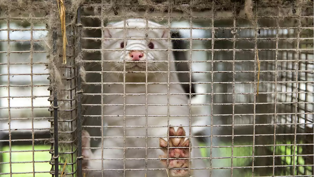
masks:
[[[128,19],[126,20],[126,27],[145,28],[146,20],[144,19]],[[148,21],[149,27],[163,27],[158,23]],[[124,21],[117,22],[107,27],[124,27]],[[125,31],[124,31],[125,30]],[[143,105],[126,105],[125,106],[125,125],[126,126],[167,126],[168,125],[168,84],[179,83],[176,73],[170,73],[168,81],[168,73],[149,73],[149,71],[168,71],[168,51],[154,51],[152,49],[168,49],[172,48],[171,42],[168,39],[168,29],[106,29],[104,31],[105,39],[103,48],[106,49],[121,49],[124,51],[105,51],[104,60],[115,62],[104,62],[104,71],[123,71],[123,61],[125,63],[125,90],[123,86],[123,73],[104,73],[104,93],[106,94],[129,94],[125,96],[125,104],[143,104]],[[123,38],[125,39],[114,39]],[[147,37],[147,38],[145,38]],[[135,39],[142,38],[142,39]],[[149,39],[149,38],[164,38],[164,39]],[[145,51],[141,51],[145,50]],[[170,52],[170,51],[169,51]],[[169,54],[169,60],[174,61],[172,52]],[[146,71],[147,62],[147,93],[148,94],[163,94],[163,95],[147,95],[147,104],[165,104],[165,105],[147,105],[146,113],[146,95],[130,95],[130,94],[145,94],[146,93],[146,73],[134,73],[135,71]],[[137,62],[134,62],[137,61]],[[139,62],[138,62],[139,61]],[[142,62],[140,62],[142,61]],[[159,61],[154,62],[152,61]],[[120,63],[118,63],[120,62]],[[175,71],[173,62],[169,62],[170,71]],[[116,84],[117,82],[121,84]],[[112,84],[115,83],[115,84]],[[131,83],[131,84],[129,84]],[[141,83],[141,84],[136,84]],[[160,83],[160,84],[149,84]],[[170,95],[169,104],[188,104],[189,99],[184,95],[184,90],[181,84],[169,84]],[[108,127],[104,131],[104,148],[119,148],[119,149],[97,149],[94,153],[90,149],[83,149],[82,153],[84,159],[99,159],[99,160],[83,160],[84,168],[89,169],[84,171],[87,176],[101,176],[101,169],[104,169],[103,176],[106,177],[122,177],[123,169],[126,170],[126,177],[144,177],[146,169],[162,169],[167,168],[166,162],[158,159],[159,157],[166,157],[167,151],[165,149],[157,149],[158,147],[166,147],[167,141],[158,139],[160,136],[167,136],[167,127],[148,127],[147,136],[154,136],[156,138],[147,138],[147,147],[151,149],[145,150],[146,147],[146,128],[145,127],[126,127],[124,125],[124,96],[123,95],[104,95],[104,125],[120,126]],[[107,104],[121,104],[121,105],[107,105]],[[146,119],[147,114],[147,119]],[[118,115],[118,116],[117,116]],[[189,105],[171,105],[169,107],[169,124],[179,127],[180,125],[187,127],[169,129],[169,135],[174,136],[189,136]],[[180,115],[180,116],[175,116]],[[182,116],[184,115],[184,116]],[[117,116],[117,117],[113,117]],[[161,117],[162,116],[162,117]],[[193,120],[192,120],[193,122]],[[125,138],[126,137],[142,137],[142,138]],[[88,132],[83,131],[83,136],[89,136]],[[106,138],[106,137],[120,137],[120,138]],[[122,138],[121,138],[122,137]],[[189,139],[187,138],[172,138],[169,144],[176,146],[189,146]],[[99,145],[101,147],[102,144]],[[133,148],[125,149],[123,147]],[[196,138],[191,138],[191,146],[197,146]],[[90,147],[90,139],[83,138],[83,147]],[[141,148],[141,149],[137,149]],[[155,148],[155,149],[152,149]],[[103,153],[103,163],[101,162],[101,154]],[[172,153],[172,154],[171,154]],[[181,156],[178,154],[181,153]],[[125,157],[124,157],[125,154]],[[147,159],[147,166],[145,165],[145,158]],[[171,149],[170,156],[182,157],[187,155],[188,149]],[[191,151],[191,158],[200,158],[199,149],[193,148]],[[123,160],[127,158],[127,160]],[[138,160],[138,158],[140,158]],[[106,160],[106,159],[120,159],[120,160]],[[191,159],[191,168],[206,168],[202,159]],[[187,160],[169,160],[169,168],[188,168]],[[103,166],[102,166],[103,165]],[[100,171],[93,171],[98,169]],[[106,170],[106,169],[116,169]],[[122,170],[121,170],[122,169]],[[142,170],[135,170],[142,169]],[[143,170],[144,169],[144,170]],[[191,170],[190,176],[208,177],[209,170],[194,169]],[[169,170],[169,176],[188,177],[187,170]],[[147,170],[147,177],[167,177],[166,170]]]

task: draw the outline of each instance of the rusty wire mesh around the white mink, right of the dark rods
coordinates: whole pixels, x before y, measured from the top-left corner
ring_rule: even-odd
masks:
[[[233,5],[236,7],[239,4]],[[93,7],[96,6],[93,4]],[[121,9],[127,11],[127,9],[134,8],[132,5],[124,4],[119,6],[121,12],[118,13],[115,10],[111,12],[110,8],[106,9],[106,4],[99,4],[99,7],[103,8],[96,9],[96,14],[82,16],[82,19],[86,21],[83,23],[83,31],[86,32],[83,39],[86,45],[82,50],[88,53],[89,57],[84,58],[88,60],[84,61],[90,64],[90,67],[86,67],[87,78],[94,79],[87,79],[83,83],[86,88],[93,86],[93,90],[84,90],[83,118],[89,120],[98,118],[99,121],[96,123],[97,120],[95,120],[93,124],[83,126],[83,129],[89,130],[98,128],[93,135],[91,134],[91,137],[98,139],[98,141],[94,141],[94,146],[92,144],[94,147],[92,149],[97,149],[95,148],[98,147],[97,144],[104,139],[99,133],[108,127],[101,123],[105,115],[100,109],[102,96],[106,95],[102,91],[105,83],[101,84],[100,82],[101,77],[105,76],[101,65],[97,64],[100,60],[95,59],[101,58],[100,53],[103,51],[100,49],[100,40],[102,39],[100,38],[100,29],[105,29],[106,23],[102,22],[107,22],[108,19],[111,21],[123,20],[125,14]],[[186,7],[191,8],[188,5]],[[258,11],[264,7],[266,6],[261,5],[256,9]],[[186,33],[203,30],[203,33],[206,33],[197,38],[183,37],[182,39],[186,40],[189,46],[187,50],[182,51],[192,49],[191,55],[194,56],[202,55],[198,53],[203,51],[206,53],[204,54],[207,58],[204,59],[205,62],[196,61],[197,57],[191,58],[189,53],[187,53],[187,57],[190,58],[188,60],[193,61],[191,65],[202,62],[207,68],[205,71],[192,71],[192,73],[194,75],[205,73],[205,78],[200,79],[203,82],[193,84],[197,88],[198,84],[207,84],[205,94],[197,93],[195,95],[206,95],[205,102],[199,105],[204,106],[205,109],[209,105],[209,109],[211,109],[208,115],[201,114],[200,116],[208,116],[211,119],[209,124],[213,127],[211,130],[209,129],[209,132],[212,133],[211,143],[208,142],[205,146],[208,149],[208,157],[212,161],[215,160],[214,163],[211,163],[213,165],[212,173],[214,173],[214,169],[225,167],[225,169],[231,169],[230,175],[233,176],[243,176],[243,174],[248,176],[312,176],[313,152],[304,149],[311,149],[309,147],[314,145],[313,90],[309,89],[313,88],[313,63],[311,63],[313,53],[312,48],[306,47],[311,42],[302,45],[303,41],[311,40],[312,37],[301,35],[303,33],[301,31],[312,29],[311,26],[306,26],[306,24],[311,24],[309,21],[312,20],[309,8],[300,8],[307,14],[298,16],[294,12],[296,8],[299,8],[296,5],[273,6],[275,13],[257,16],[255,25],[251,25],[243,17],[238,17],[237,9],[232,6],[233,11],[222,13],[222,15],[214,10],[190,13],[196,14],[192,16],[177,13],[173,6],[171,8],[171,13],[170,10],[168,13],[154,13],[146,8],[146,13],[139,11],[140,15],[132,18],[164,19],[161,22],[166,25],[170,21],[171,23],[175,21],[192,22],[193,26],[197,27],[173,29],[188,31]],[[179,5],[177,8],[179,9]],[[213,10],[220,7],[213,3],[210,8]],[[279,8],[291,8],[292,13],[288,13],[283,18],[279,15],[279,11],[276,11]],[[89,20],[93,20],[93,22]],[[303,20],[307,22],[303,23]],[[180,25],[184,26],[182,23],[178,24],[178,26]],[[96,42],[91,46],[90,41],[92,40]],[[197,43],[201,43],[199,45],[201,49],[197,47]],[[96,55],[97,57],[95,57]],[[259,95],[257,96],[258,62],[260,62],[260,76]],[[198,69],[195,66],[195,70]],[[97,87],[99,88],[97,89]],[[101,126],[99,126],[100,124]],[[210,134],[206,135],[210,136]],[[228,147],[231,148],[231,153],[228,155],[224,154],[224,151],[217,150]],[[301,147],[304,149],[300,150]],[[234,155],[236,149],[241,148],[243,154]],[[247,154],[244,153],[247,148],[251,148],[250,155],[244,155]],[[225,158],[228,159],[227,162],[219,161]],[[303,162],[304,160],[305,162]],[[245,164],[236,166],[239,161],[244,161]],[[215,164],[222,166],[214,167]],[[100,170],[106,170],[106,167]],[[217,170],[214,174],[219,173],[228,174],[226,170],[225,172]]]

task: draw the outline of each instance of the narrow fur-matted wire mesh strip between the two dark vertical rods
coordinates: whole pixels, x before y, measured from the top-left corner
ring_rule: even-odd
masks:
[[[72,14],[66,14],[66,37],[68,44],[66,45],[66,58],[67,63],[62,64],[62,35],[61,31],[57,28],[50,28],[52,33],[52,56],[54,62],[57,63],[58,71],[60,72],[61,82],[58,80],[50,79],[50,99],[51,101],[51,133],[53,135],[53,141],[51,142],[51,174],[52,176],[74,176],[80,175],[79,171],[81,167],[80,157],[80,141],[77,137],[81,137],[81,119],[80,112],[77,109],[81,109],[80,96],[81,91],[80,77],[78,76],[79,67],[75,62],[75,58],[80,53],[80,40],[77,38],[77,33],[80,32],[73,24]],[[59,43],[58,43],[59,40]],[[51,69],[51,68],[50,68]],[[50,75],[55,77],[56,74]],[[58,174],[58,175],[55,175]]]

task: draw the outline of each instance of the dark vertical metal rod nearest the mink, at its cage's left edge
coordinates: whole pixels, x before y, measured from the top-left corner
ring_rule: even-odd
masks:
[[[82,23],[81,23],[81,7],[77,10],[77,23],[76,23],[78,34],[76,38],[76,48],[77,48],[77,56],[81,54],[81,36],[82,36]],[[82,177],[82,86],[81,86],[81,77],[80,66],[79,63],[75,63],[76,65],[76,77],[77,77],[77,135],[78,135],[78,149],[77,149],[77,174],[78,177]]]

